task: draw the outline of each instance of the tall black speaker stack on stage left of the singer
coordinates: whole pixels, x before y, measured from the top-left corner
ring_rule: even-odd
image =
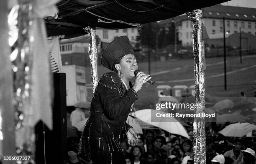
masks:
[[[36,124],[36,164],[64,164],[67,160],[66,74],[54,73],[53,77],[53,130],[41,121]]]

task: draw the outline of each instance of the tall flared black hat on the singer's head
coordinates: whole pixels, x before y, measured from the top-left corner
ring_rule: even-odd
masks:
[[[103,51],[101,64],[114,71],[115,64],[125,55],[133,54],[133,48],[127,36],[115,38]]]

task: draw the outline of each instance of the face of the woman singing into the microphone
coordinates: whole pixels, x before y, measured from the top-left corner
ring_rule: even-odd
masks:
[[[138,70],[138,65],[134,55],[125,55],[125,57],[120,60],[119,65],[123,71],[123,78],[132,79],[135,77],[134,71]]]

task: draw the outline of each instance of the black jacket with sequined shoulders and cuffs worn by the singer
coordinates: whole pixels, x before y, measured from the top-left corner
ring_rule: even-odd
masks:
[[[130,88],[131,86],[130,82]],[[133,89],[126,91],[115,72],[105,73],[95,89],[84,137],[119,137],[131,127],[126,124],[131,105],[138,99]]]

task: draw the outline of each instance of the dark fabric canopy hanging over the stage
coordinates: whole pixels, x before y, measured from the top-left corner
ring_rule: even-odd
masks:
[[[227,0],[61,0],[57,19],[46,18],[48,36],[74,37],[84,27],[120,29],[176,17]]]

